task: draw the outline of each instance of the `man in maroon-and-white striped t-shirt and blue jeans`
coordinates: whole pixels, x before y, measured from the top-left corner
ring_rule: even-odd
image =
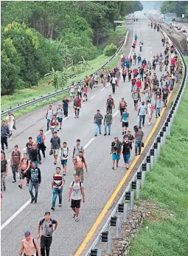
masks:
[[[59,197],[59,207],[62,206],[62,193],[63,193],[63,185],[65,184],[64,177],[60,174],[60,167],[56,167],[55,175],[52,179],[52,191],[53,191],[53,198],[52,198],[52,210],[55,210],[55,201],[57,196]]]

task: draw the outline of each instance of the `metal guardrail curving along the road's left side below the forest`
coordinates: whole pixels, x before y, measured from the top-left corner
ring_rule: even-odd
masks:
[[[128,31],[127,31],[127,34],[125,35],[125,41],[126,41],[126,38],[127,38],[127,35],[128,35]],[[124,46],[124,44],[125,44],[125,41],[119,46],[119,48],[117,49],[117,51],[116,51],[116,53],[106,62],[106,63],[104,63],[104,65],[102,66],[102,67],[106,67],[106,66],[108,66],[115,58],[116,58],[116,56],[119,54],[119,52],[121,51],[121,49],[122,49],[122,46]],[[102,68],[101,67],[101,68]],[[100,69],[101,69],[100,68]],[[93,72],[92,74],[95,74],[95,73],[97,73],[97,74],[99,74],[100,73],[100,69],[97,69],[97,71],[96,72]],[[83,84],[84,83],[84,81],[81,81],[80,82],[80,84]],[[75,86],[77,86],[77,83],[75,84]],[[63,92],[66,92],[66,91],[69,91],[69,89],[70,89],[70,86],[67,86],[67,88],[64,88],[64,89],[61,89],[61,90],[59,90],[59,91],[55,91],[55,92],[53,92],[52,94],[47,94],[47,95],[45,95],[45,96],[41,96],[41,97],[39,97],[39,98],[37,98],[37,99],[33,99],[33,100],[31,100],[31,101],[26,101],[25,103],[23,103],[23,104],[18,104],[17,106],[15,106],[14,108],[10,108],[10,109],[8,109],[8,110],[6,110],[6,111],[1,111],[1,117],[3,117],[4,115],[6,115],[6,114],[8,114],[8,112],[15,112],[15,111],[18,111],[18,110],[20,110],[21,108],[26,108],[26,107],[28,107],[29,105],[34,105],[35,103],[41,103],[41,101],[43,101],[43,100],[49,100],[49,98],[51,98],[51,97],[55,97],[55,96],[57,96],[57,95],[59,95],[59,94],[62,94]]]

